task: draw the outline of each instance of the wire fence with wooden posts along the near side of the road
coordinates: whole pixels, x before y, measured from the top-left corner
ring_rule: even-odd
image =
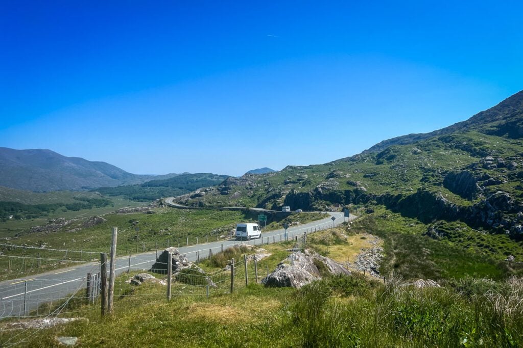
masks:
[[[333,223],[331,226],[318,226],[294,232],[285,231],[249,241],[233,239],[228,241],[229,243],[221,243],[219,246],[188,251],[183,256],[191,259],[191,264],[197,266],[201,260],[221,253],[231,246],[245,244],[263,246],[279,242],[291,242],[290,250],[294,254],[305,248],[308,233],[326,230],[336,225],[338,224]],[[188,244],[187,239],[185,242]],[[4,268],[7,275],[13,278],[9,283],[3,282],[4,284],[0,286],[0,318],[56,318],[74,316],[78,313],[86,313],[86,311],[93,311],[93,313],[100,311],[100,304],[104,302],[104,298],[102,298],[101,291],[103,277],[98,259],[99,253],[10,244],[0,244],[0,252],[2,253],[0,270]],[[63,256],[56,258],[56,253]],[[132,258],[133,264],[131,264],[131,256],[128,257],[128,265],[118,265],[120,275],[114,283],[114,297],[119,300],[143,301],[146,299],[147,302],[153,302],[168,301],[169,296],[209,298],[231,294],[248,284],[260,283],[268,276],[271,267],[266,261],[244,255],[242,259],[230,260],[226,267],[213,272],[206,272],[199,267],[182,268],[179,272],[173,273],[172,282],[169,282],[166,271],[167,263],[158,261],[157,249],[155,260],[151,260],[145,255],[139,255]],[[150,267],[152,263],[158,268]],[[69,272],[69,269],[49,273],[50,270],[63,269],[67,266],[83,266],[82,269],[87,272],[80,277]],[[144,278],[140,273],[144,273],[145,270],[149,270],[147,273],[155,276]],[[33,277],[33,275],[40,275],[40,277]],[[169,283],[170,291],[167,291]],[[124,302],[115,302],[116,307],[120,304],[127,306]],[[41,330],[41,328],[20,330],[5,327],[1,329],[0,346],[23,343],[25,339]],[[22,337],[24,339],[21,339]]]

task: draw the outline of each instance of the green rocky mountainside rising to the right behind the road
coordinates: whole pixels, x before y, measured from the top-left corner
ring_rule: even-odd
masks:
[[[325,210],[383,205],[422,222],[523,232],[523,92],[467,121],[391,139],[353,157],[230,177],[186,205]]]

